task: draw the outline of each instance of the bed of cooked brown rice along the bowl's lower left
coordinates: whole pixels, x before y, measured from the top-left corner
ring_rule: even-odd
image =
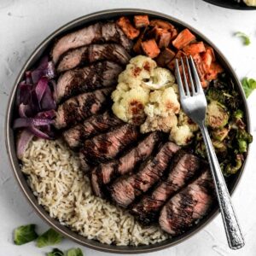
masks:
[[[90,180],[79,170],[78,155],[61,140],[33,140],[22,164],[38,203],[81,236],[118,246],[148,245],[169,237],[159,227],[143,227],[127,211],[93,195]]]

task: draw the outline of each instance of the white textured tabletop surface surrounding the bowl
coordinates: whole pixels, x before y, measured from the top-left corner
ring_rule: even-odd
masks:
[[[102,9],[142,8],[153,9],[172,15],[195,26],[212,42],[217,44],[240,78],[256,78],[256,11],[236,11],[220,9],[200,0],[1,0],[0,1],[0,255],[27,256],[44,255],[50,247],[38,249],[33,243],[24,246],[13,244],[12,231],[20,224],[38,224],[39,231],[48,227],[33,212],[21,194],[10,170],[4,147],[4,118],[9,92],[20,68],[28,56],[49,33],[59,26],[79,16]],[[244,47],[233,33],[241,31],[250,35],[253,44]],[[250,97],[252,115],[255,114],[256,93]],[[253,124],[255,123],[253,118]],[[253,125],[253,130],[256,126]],[[255,132],[253,132],[255,134]],[[246,255],[256,253],[256,172],[255,143],[248,160],[247,170],[242,177],[239,188],[233,196],[234,206],[239,217],[246,246],[239,251],[231,251],[224,236],[224,227],[220,216],[215,218],[206,229],[184,241],[177,247],[151,255],[205,256],[205,255]],[[73,241],[63,241],[57,247],[78,247]],[[83,248],[84,255],[102,255],[88,248]],[[107,255],[106,253],[104,253]]]

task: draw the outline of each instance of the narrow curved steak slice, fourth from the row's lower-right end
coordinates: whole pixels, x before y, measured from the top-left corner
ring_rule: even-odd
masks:
[[[152,154],[159,141],[160,133],[150,133],[148,137],[145,137],[135,148],[131,148],[131,150],[121,156],[119,160],[112,160],[97,166],[91,173],[90,179],[94,194],[103,197],[106,189],[105,185],[113,181],[116,177],[136,170],[137,165]]]

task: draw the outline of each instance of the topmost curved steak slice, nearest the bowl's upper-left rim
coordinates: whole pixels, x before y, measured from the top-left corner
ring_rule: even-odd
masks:
[[[132,48],[132,41],[125,36],[124,32],[114,22],[104,24],[98,22],[60,38],[52,49],[52,60],[56,64],[61,55],[69,49],[105,42],[121,44],[128,51]]]

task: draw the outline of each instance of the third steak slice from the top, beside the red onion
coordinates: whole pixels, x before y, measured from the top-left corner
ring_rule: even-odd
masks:
[[[117,82],[122,67],[103,61],[83,68],[75,68],[63,73],[55,89],[55,101],[61,102],[71,96],[108,87]]]

